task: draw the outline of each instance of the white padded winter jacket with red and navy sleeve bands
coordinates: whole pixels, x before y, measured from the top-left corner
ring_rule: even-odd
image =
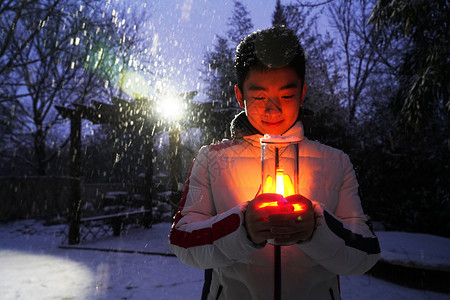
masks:
[[[312,239],[281,247],[281,299],[340,299],[338,275],[369,270],[380,256],[346,154],[303,136],[300,191],[315,204]],[[259,134],[205,146],[192,165],[170,233],[185,264],[213,269],[209,299],[273,299],[274,246],[247,237],[244,213],[261,184]]]

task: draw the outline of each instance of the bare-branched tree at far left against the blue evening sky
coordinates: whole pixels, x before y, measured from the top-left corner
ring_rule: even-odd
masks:
[[[139,67],[133,45],[136,22],[143,19],[129,18],[132,22],[126,23],[114,9],[108,13],[101,1],[23,1],[22,6],[14,32],[4,44],[7,72],[0,74],[0,86],[7,92],[0,101],[6,113],[2,119],[6,120],[8,110],[14,111],[17,131],[3,138],[16,149],[32,149],[15,151],[11,159],[32,166],[31,173],[44,175],[49,161],[68,141],[48,140],[60,122],[54,105],[84,104],[94,98],[107,101],[120,93],[119,84],[108,83],[117,82],[121,69]],[[1,25],[11,28],[7,22]],[[3,156],[11,155],[4,150]]]

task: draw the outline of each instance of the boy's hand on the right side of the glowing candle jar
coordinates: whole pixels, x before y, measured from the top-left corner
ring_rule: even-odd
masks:
[[[300,204],[302,210],[268,216],[270,233],[278,236],[275,237],[275,243],[289,245],[309,240],[315,227],[314,208],[311,201],[298,194],[286,197],[286,200],[290,204]]]

